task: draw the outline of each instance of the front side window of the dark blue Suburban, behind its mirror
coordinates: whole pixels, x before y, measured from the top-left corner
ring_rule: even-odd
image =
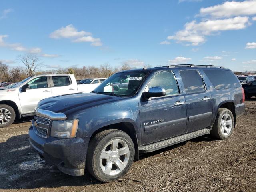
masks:
[[[176,78],[171,71],[157,73],[149,82],[148,89],[151,87],[162,87],[166,91],[166,95],[179,94],[179,88]],[[148,91],[148,90],[146,90]]]

